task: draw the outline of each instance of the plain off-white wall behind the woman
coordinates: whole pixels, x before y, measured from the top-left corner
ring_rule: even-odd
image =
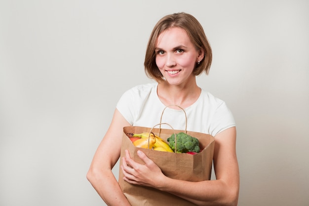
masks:
[[[309,1],[1,0],[0,206],[104,205],[91,159],[120,95],[151,82],[154,24],[179,11],[213,48],[198,84],[237,123],[238,205],[309,205]]]

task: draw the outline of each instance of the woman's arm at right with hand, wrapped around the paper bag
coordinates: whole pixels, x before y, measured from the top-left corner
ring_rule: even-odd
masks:
[[[236,206],[239,170],[235,145],[235,127],[216,135],[214,150],[216,180],[189,182],[168,178],[144,153],[140,153],[139,156],[145,165],[140,165],[130,158],[128,152],[121,165],[124,179],[132,184],[150,186],[169,192],[199,206]]]

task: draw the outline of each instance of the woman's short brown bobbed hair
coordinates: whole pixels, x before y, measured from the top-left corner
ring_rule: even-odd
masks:
[[[204,30],[200,23],[188,13],[174,13],[169,14],[161,18],[151,33],[151,36],[148,41],[146,55],[145,55],[145,72],[146,75],[154,79],[157,82],[162,82],[163,76],[159,71],[158,67],[155,63],[155,46],[158,36],[165,30],[179,27],[184,29],[192,43],[195,45],[196,50],[202,49],[204,51],[204,58],[201,60],[199,64],[196,64],[196,67],[193,70],[193,74],[195,76],[200,75],[202,72],[205,72],[207,75],[209,73],[211,61],[212,61],[212,50],[210,44],[206,38]]]

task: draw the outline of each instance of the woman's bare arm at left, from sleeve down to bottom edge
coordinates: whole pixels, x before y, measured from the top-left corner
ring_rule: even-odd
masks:
[[[112,173],[112,168],[120,157],[124,126],[131,125],[118,110],[115,110],[112,123],[95,152],[87,172],[87,179],[109,206],[131,206]]]

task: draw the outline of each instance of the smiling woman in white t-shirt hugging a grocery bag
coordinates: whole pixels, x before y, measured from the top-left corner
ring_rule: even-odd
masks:
[[[108,205],[130,206],[112,173],[120,156],[122,128],[131,125],[153,127],[168,105],[184,108],[188,118],[187,130],[215,137],[216,180],[189,182],[171,179],[143,152],[138,153],[145,162],[140,165],[127,151],[121,165],[124,180],[154,187],[200,206],[237,205],[239,171],[232,113],[222,100],[196,84],[197,75],[208,74],[211,60],[211,47],[201,25],[192,15],[167,15],[155,25],[144,65],[147,75],[156,83],[138,85],[122,95],[87,173],[88,180]],[[163,119],[174,129],[184,130],[184,113],[179,107],[168,107]]]

